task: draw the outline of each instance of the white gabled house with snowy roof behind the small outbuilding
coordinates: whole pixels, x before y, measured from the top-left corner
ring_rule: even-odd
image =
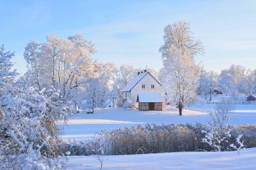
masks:
[[[159,92],[162,93],[162,96],[165,96],[162,84],[147,70],[138,72],[138,75],[124,87],[122,90],[123,102],[128,99],[137,100],[138,93],[142,92]],[[165,102],[163,102],[162,106],[165,107]]]

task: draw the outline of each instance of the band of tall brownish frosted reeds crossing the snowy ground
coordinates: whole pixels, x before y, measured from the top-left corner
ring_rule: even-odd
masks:
[[[205,137],[201,131],[208,130],[207,128],[202,124],[146,124],[145,127],[136,125],[96,133],[89,141],[64,142],[62,147],[70,151],[70,155],[98,154],[99,149],[104,150],[106,155],[211,151],[213,148],[201,140]],[[231,137],[224,150],[234,150],[229,145],[236,143],[239,134],[243,134],[241,141],[244,141],[244,147],[256,147],[255,124],[235,125],[230,129]]]

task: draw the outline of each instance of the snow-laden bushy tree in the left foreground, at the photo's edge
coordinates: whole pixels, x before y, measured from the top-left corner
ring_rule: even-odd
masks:
[[[14,53],[0,48],[0,169],[61,169],[58,119],[65,122],[70,108],[57,92],[22,88],[14,81]],[[19,84],[20,85],[20,84]]]

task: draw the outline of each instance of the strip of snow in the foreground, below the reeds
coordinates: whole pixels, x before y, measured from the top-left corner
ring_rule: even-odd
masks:
[[[103,170],[255,170],[256,148],[238,152],[172,152],[104,156]],[[68,169],[98,170],[95,156],[71,156]]]

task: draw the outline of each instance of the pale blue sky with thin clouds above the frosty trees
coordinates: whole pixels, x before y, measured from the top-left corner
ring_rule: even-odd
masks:
[[[12,61],[21,73],[30,40],[77,33],[95,44],[93,59],[158,70],[164,27],[185,20],[203,42],[204,56],[196,62],[206,70],[256,68],[255,7],[255,0],[0,0],[0,44],[15,51]]]

